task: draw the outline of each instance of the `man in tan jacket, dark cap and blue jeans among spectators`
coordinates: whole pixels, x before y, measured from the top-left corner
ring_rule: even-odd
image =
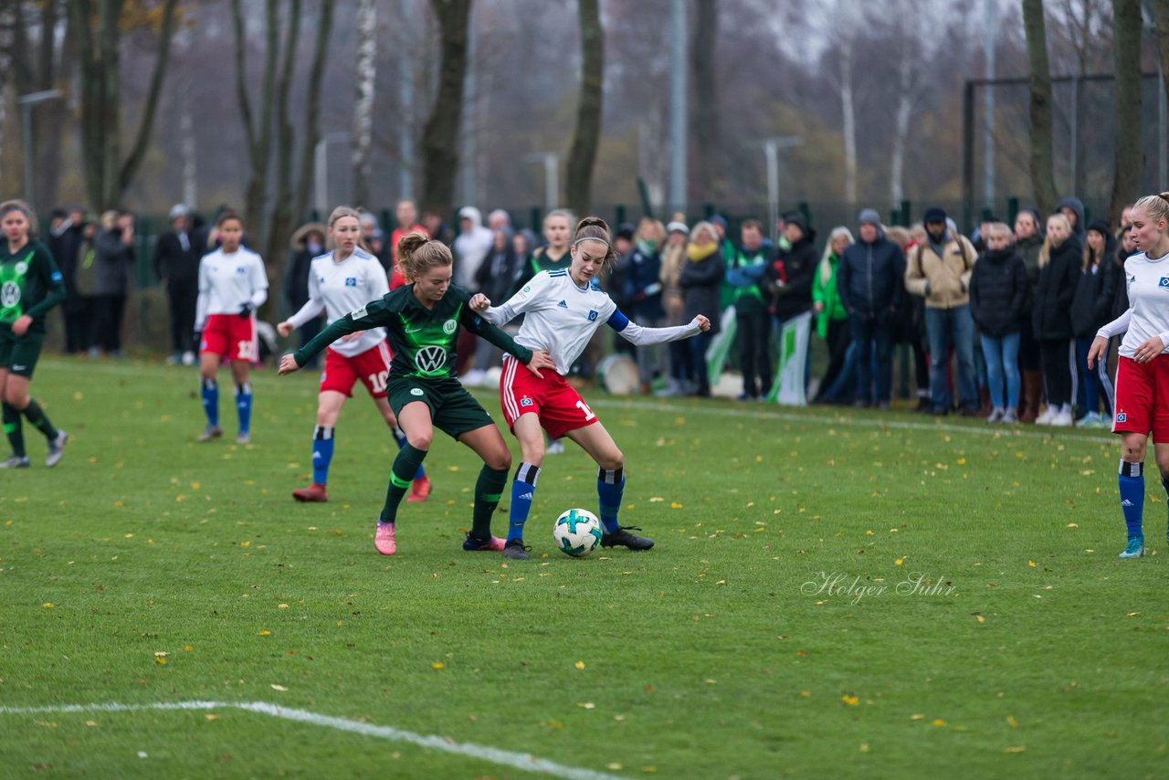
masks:
[[[978,386],[969,291],[977,254],[966,236],[947,225],[942,209],[926,209],[925,223],[926,241],[914,247],[906,262],[905,288],[926,299],[933,413],[945,415],[953,408],[946,381],[953,347],[957,358],[959,408],[962,416],[974,417],[978,414]]]

